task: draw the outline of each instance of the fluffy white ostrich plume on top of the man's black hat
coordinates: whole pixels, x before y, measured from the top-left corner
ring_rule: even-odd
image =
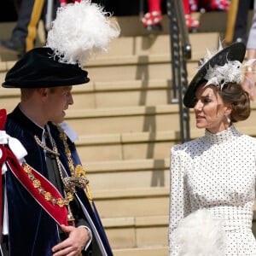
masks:
[[[119,32],[118,23],[111,22],[100,5],[82,0],[58,9],[46,46],[54,50],[60,62],[83,67],[92,57],[107,51]]]

